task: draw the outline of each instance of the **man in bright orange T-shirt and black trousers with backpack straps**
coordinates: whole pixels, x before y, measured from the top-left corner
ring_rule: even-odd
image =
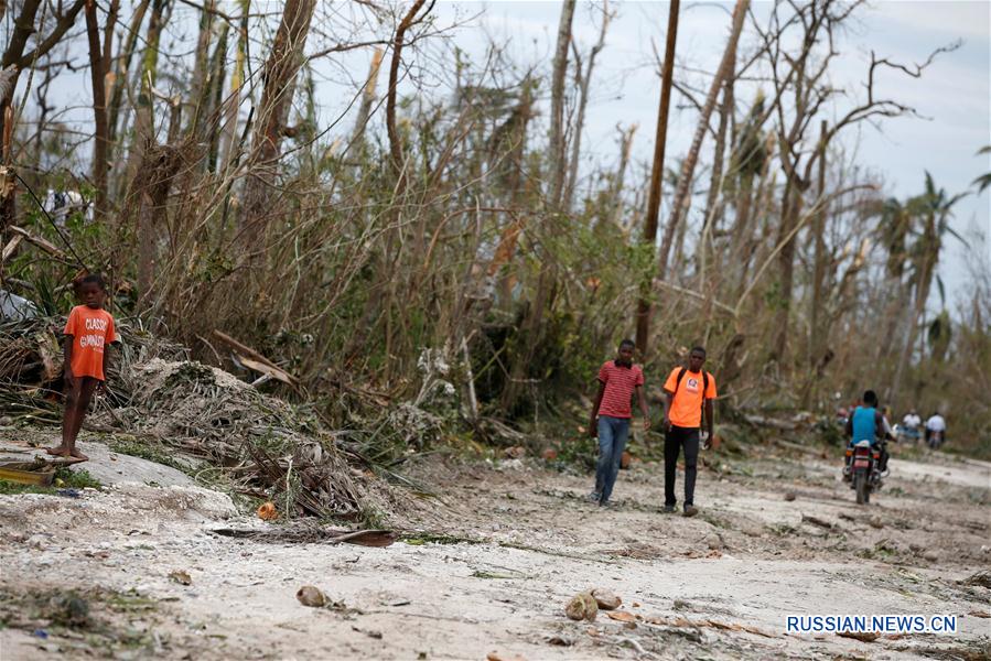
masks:
[[[712,400],[715,399],[715,379],[702,371],[705,349],[694,347],[688,356],[688,367],[676,367],[664,384],[664,511],[674,512],[675,473],[678,455],[685,446],[685,516],[694,517],[696,473],[699,459],[699,432],[702,426],[702,409],[705,410],[705,427],[712,441]]]

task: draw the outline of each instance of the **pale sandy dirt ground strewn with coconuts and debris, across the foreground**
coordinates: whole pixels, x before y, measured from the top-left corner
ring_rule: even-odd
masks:
[[[658,513],[655,465],[621,473],[600,509],[590,477],[537,462],[424,460],[412,473],[437,497],[383,549],[218,537],[268,524],[159,474],[3,496],[0,658],[991,658],[991,589],[961,582],[991,564],[991,466],[895,458],[858,507],[838,460],[707,462],[686,519]],[[303,585],[330,605],[302,606]],[[633,621],[569,620],[592,587]],[[956,615],[959,632],[786,636],[788,614]]]

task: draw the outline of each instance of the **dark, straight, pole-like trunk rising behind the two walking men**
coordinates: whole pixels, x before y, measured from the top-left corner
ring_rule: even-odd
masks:
[[[668,109],[671,106],[671,82],[675,73],[675,42],[678,39],[678,4],[671,0],[668,8],[668,34],[664,51],[664,72],[660,80],[660,106],[657,111],[657,132],[654,138],[654,164],[650,169],[650,193],[647,199],[647,219],[644,223],[644,243],[654,246],[657,242],[657,217],[660,214],[660,184],[664,177],[664,151],[668,136]],[[647,337],[650,334],[650,288],[640,285],[640,295],[636,310],[636,348],[640,359],[646,359]]]

